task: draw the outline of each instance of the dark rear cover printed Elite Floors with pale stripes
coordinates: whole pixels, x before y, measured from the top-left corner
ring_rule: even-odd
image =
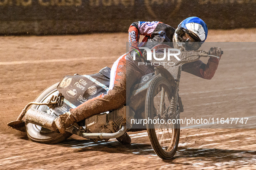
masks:
[[[54,110],[58,114],[68,112],[85,101],[107,94],[110,83],[110,68],[104,67],[93,75],[64,76],[57,86],[62,101]]]

